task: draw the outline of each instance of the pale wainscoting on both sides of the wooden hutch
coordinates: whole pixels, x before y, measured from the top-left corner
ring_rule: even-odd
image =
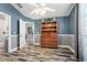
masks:
[[[72,34],[57,34],[58,36],[58,46],[68,46],[72,51],[75,50],[75,35]],[[34,44],[40,45],[41,34],[35,34]]]

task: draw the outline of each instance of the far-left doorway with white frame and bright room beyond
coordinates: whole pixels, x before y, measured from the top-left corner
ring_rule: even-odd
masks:
[[[0,53],[11,51],[11,17],[0,12]]]

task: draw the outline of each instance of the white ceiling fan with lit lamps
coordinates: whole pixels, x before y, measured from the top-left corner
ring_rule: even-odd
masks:
[[[54,9],[46,7],[46,4],[44,3],[33,3],[31,6],[35,7],[35,9],[31,12],[31,14],[35,13],[35,14],[44,15],[47,11],[55,12]]]

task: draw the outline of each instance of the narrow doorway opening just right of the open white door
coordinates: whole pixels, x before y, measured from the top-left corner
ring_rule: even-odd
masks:
[[[26,41],[28,44],[34,43],[34,23],[33,22],[26,22],[25,41]]]

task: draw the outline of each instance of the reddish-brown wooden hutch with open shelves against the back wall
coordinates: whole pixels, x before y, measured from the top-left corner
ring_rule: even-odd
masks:
[[[42,22],[41,46],[57,47],[57,22]]]

